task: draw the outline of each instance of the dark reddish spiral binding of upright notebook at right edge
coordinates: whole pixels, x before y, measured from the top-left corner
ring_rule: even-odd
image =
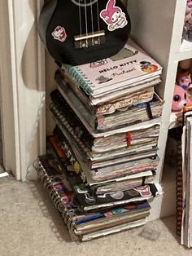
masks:
[[[176,167],[176,232],[181,236],[182,222],[182,152],[181,129],[177,129],[177,167]]]

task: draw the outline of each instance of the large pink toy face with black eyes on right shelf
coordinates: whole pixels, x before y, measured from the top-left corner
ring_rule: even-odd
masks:
[[[185,90],[181,86],[175,86],[172,98],[172,112],[179,112],[186,105]]]

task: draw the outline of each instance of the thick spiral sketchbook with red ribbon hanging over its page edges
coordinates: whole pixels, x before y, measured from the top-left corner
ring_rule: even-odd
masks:
[[[65,112],[60,112],[55,104],[51,104],[50,111],[77,143],[81,140],[81,148],[92,161],[110,160],[114,157],[123,157],[146,152],[157,146],[159,126],[151,126],[148,129],[129,130],[116,135],[94,138],[85,127],[78,123],[76,117]],[[110,154],[109,154],[110,152]]]

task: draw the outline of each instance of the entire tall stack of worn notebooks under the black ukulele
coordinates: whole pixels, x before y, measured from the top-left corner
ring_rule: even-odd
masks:
[[[86,241],[146,223],[147,200],[159,194],[153,181],[163,107],[155,85],[161,72],[129,40],[107,60],[63,64],[55,73],[50,111],[56,126],[48,139],[55,160],[40,157],[38,170],[72,237]]]

